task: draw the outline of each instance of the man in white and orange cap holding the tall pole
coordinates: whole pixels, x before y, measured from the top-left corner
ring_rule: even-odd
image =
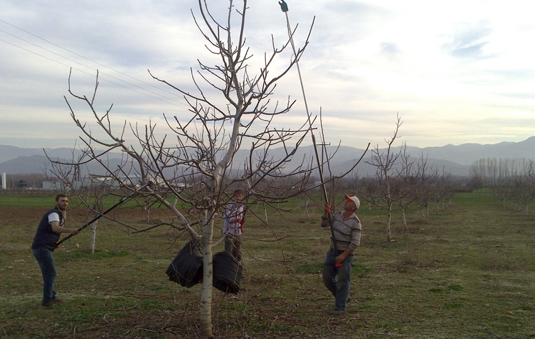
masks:
[[[345,196],[344,211],[331,213],[331,204],[325,204],[322,215],[322,227],[333,228],[331,248],[323,263],[323,283],[333,293],[335,309],[330,311],[332,316],[344,314],[347,309],[349,287],[351,286],[351,268],[353,267],[353,251],[360,244],[362,226],[355,212],[360,206],[358,197]],[[330,219],[330,220],[329,220]],[[338,278],[337,278],[338,276]]]

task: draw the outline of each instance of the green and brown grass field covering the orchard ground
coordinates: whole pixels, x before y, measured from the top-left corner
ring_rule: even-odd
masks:
[[[10,211],[17,213],[6,220]],[[535,338],[532,215],[500,208],[485,193],[463,193],[446,211],[430,209],[425,222],[409,215],[407,231],[397,215],[394,241],[386,243],[386,217],[362,208],[352,302],[345,316],[329,318],[333,298],[321,280],[329,231],[313,212],[311,219],[299,209],[284,218],[269,213],[273,229],[248,219],[246,279],[237,295],[214,292],[215,338]],[[55,251],[65,302],[39,307],[41,275],[30,243],[42,213],[0,206],[0,336],[200,336],[200,285],[186,289],[165,275],[187,240],[166,228],[131,234],[102,222],[95,254],[89,232],[72,238]],[[132,210],[117,216],[144,220]],[[69,217],[81,219],[75,211]]]

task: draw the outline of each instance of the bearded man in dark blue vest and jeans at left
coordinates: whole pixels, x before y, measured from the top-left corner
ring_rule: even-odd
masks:
[[[56,196],[55,208],[43,215],[32,242],[33,255],[41,267],[41,273],[43,273],[43,302],[41,303],[43,307],[50,307],[61,302],[59,298],[56,298],[54,290],[57,273],[54,257],[52,257],[52,252],[56,248],[57,240],[59,240],[59,233],[78,234],[77,229],[69,229],[64,226],[63,212],[66,211],[68,204],[69,200],[66,195],[58,194]]]

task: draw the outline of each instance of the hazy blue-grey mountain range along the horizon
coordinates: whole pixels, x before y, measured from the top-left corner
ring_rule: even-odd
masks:
[[[434,164],[440,171],[451,173],[451,175],[467,177],[470,173],[470,166],[478,159],[485,158],[528,158],[534,155],[535,137],[529,137],[523,142],[500,142],[498,144],[461,144],[458,146],[446,145],[442,147],[418,148],[407,146],[407,153],[412,158],[418,158],[421,155],[427,157],[427,164]],[[0,173],[9,174],[26,174],[26,173],[43,173],[43,168],[47,167],[48,159],[45,152],[53,159],[69,159],[72,157],[72,148],[19,148],[15,146],[0,145]],[[320,157],[327,157],[335,152],[335,146],[325,148],[325,155],[320,151]],[[380,150],[381,152],[382,150]],[[400,151],[400,146],[393,148],[393,151]],[[324,173],[333,173],[334,175],[347,172],[355,162],[360,159],[364,149],[353,148],[349,146],[340,146],[338,151],[329,161],[329,169],[324,168]],[[286,154],[284,148],[274,148],[270,150],[270,155],[274,159],[280,159]],[[293,157],[293,161],[287,164],[286,169],[290,170],[293,166],[298,166],[304,159],[310,162],[313,159],[313,146],[302,146]],[[110,162],[117,162],[122,153],[109,153]],[[248,150],[240,150],[236,153],[234,161],[236,164],[243,163],[249,155]],[[375,173],[375,168],[367,164],[371,157],[371,149],[364,155],[360,164],[356,167],[360,176],[370,176]],[[99,173],[101,168],[99,164],[89,166],[90,173]]]

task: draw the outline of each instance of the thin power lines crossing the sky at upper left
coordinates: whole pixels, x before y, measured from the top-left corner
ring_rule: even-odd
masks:
[[[110,67],[108,67],[108,66],[106,66],[106,65],[104,65],[104,64],[100,64],[100,63],[97,62],[97,61],[93,61],[93,60],[91,60],[91,59],[89,59],[89,58],[87,58],[87,57],[84,57],[83,55],[79,55],[79,54],[76,53],[76,52],[72,52],[71,50],[68,50],[67,48],[61,47],[61,46],[57,45],[56,43],[52,43],[51,41],[48,41],[48,40],[46,40],[46,39],[43,39],[43,38],[41,38],[41,37],[39,37],[39,36],[37,36],[37,35],[31,33],[31,32],[28,32],[28,31],[26,31],[26,30],[23,30],[22,28],[19,28],[19,27],[17,27],[17,26],[14,26],[14,25],[12,25],[11,23],[8,23],[7,21],[4,21],[4,20],[2,20],[2,19],[0,19],[0,21],[3,22],[3,23],[6,23],[6,24],[9,25],[9,26],[12,26],[13,28],[17,28],[17,30],[21,30],[22,32],[25,32],[25,33],[27,33],[28,35],[32,35],[33,37],[36,37],[37,39],[41,39],[42,41],[46,41],[47,43],[50,43],[50,44],[53,45],[53,46],[56,46],[56,47],[58,47],[58,48],[61,48],[62,50],[66,50],[67,52],[70,52],[70,53],[72,53],[72,54],[74,54],[74,55],[77,55],[78,57],[81,57],[81,58],[83,58],[83,59],[86,59],[86,60],[88,60],[88,61],[91,61],[91,62],[93,62],[94,64],[97,64],[97,65],[99,65],[99,66],[103,66],[103,67],[108,68],[108,69],[110,69],[110,70],[113,70],[114,72],[117,72],[117,73],[119,73],[119,74],[121,74],[121,75],[124,75],[124,76],[126,76],[126,77],[129,77],[130,79],[134,79],[135,81],[139,81],[139,82],[141,82],[142,84],[146,84],[147,86],[151,86],[151,87],[153,87],[153,88],[156,88],[157,90],[162,90],[162,92],[164,92],[164,93],[168,93],[168,94],[171,94],[171,95],[175,95],[175,96],[177,96],[177,97],[180,97],[180,96],[177,95],[176,93],[170,92],[170,91],[168,91],[168,90],[163,90],[162,88],[158,88],[157,86],[154,86],[153,84],[149,84],[149,83],[146,82],[146,81],[142,81],[142,80],[136,79],[135,77],[131,77],[130,75],[127,75],[127,74],[124,73],[124,72],[120,72],[120,71],[115,70],[115,69],[113,69],[113,68],[110,68]],[[41,48],[42,50],[46,50],[47,52],[50,52],[50,53],[52,53],[53,55],[57,55],[58,57],[62,57],[62,58],[64,58],[64,59],[67,59],[68,61],[72,61],[72,62],[74,62],[74,63],[76,63],[76,64],[79,64],[80,66],[84,66],[84,67],[89,68],[89,69],[91,69],[91,70],[95,70],[95,71],[97,71],[97,69],[95,69],[95,68],[93,68],[93,67],[91,67],[91,66],[87,66],[87,65],[85,65],[85,64],[81,64],[80,62],[75,61],[75,60],[73,60],[73,59],[69,59],[68,57],[65,57],[64,55],[60,55],[60,54],[58,54],[57,52],[53,52],[52,50],[48,50],[47,48],[44,48],[44,47],[42,47],[42,46],[39,46],[39,45],[37,45],[36,43],[32,43],[31,41],[28,41],[28,40],[23,39],[23,38],[21,38],[21,37],[18,37],[17,35],[12,35],[11,33],[6,32],[5,30],[0,30],[0,32],[3,32],[3,33],[5,33],[5,34],[7,34],[7,35],[10,35],[10,36],[12,36],[12,37],[14,37],[14,38],[16,38],[16,39],[19,39],[19,40],[21,40],[21,41],[24,41],[24,42],[26,42],[26,43],[30,43],[30,45],[32,45],[32,46],[35,46],[35,47],[37,47],[37,48]],[[27,52],[31,52],[32,54],[35,54],[35,55],[37,55],[37,56],[39,56],[39,57],[43,57],[43,58],[48,59],[48,60],[50,60],[50,61],[54,61],[54,62],[56,62],[57,64],[61,64],[61,65],[63,65],[63,66],[67,66],[67,67],[73,68],[73,69],[75,69],[75,70],[78,70],[79,72],[83,72],[83,73],[85,73],[85,74],[87,74],[87,75],[90,75],[90,76],[95,77],[95,75],[91,75],[90,73],[85,72],[84,70],[79,70],[79,69],[77,69],[77,68],[74,68],[74,67],[72,67],[72,66],[69,66],[69,65],[67,65],[67,64],[64,64],[64,63],[62,63],[62,62],[60,62],[60,61],[57,61],[57,60],[55,60],[55,59],[51,59],[50,57],[46,57],[46,56],[41,55],[41,54],[39,54],[39,53],[37,53],[37,52],[34,52],[34,51],[32,51],[32,50],[28,50],[27,48],[23,48],[23,47],[21,47],[21,46],[18,46],[18,45],[14,44],[14,43],[10,43],[10,42],[5,41],[5,40],[3,40],[3,39],[0,39],[0,41],[3,41],[3,42],[5,42],[5,43],[8,43],[8,44],[10,44],[10,45],[12,45],[12,46],[14,46],[14,47],[17,47],[17,48],[21,48],[22,50],[26,50]],[[101,79],[103,79],[104,81],[109,82],[110,84],[114,84],[114,85],[116,85],[116,86],[120,86],[120,87],[122,87],[122,88],[126,88],[126,89],[128,89],[128,90],[132,90],[132,91],[135,92],[135,93],[139,93],[139,94],[142,94],[142,95],[146,95],[147,97],[151,97],[151,98],[153,98],[153,99],[157,99],[157,100],[159,100],[159,101],[166,102],[166,104],[172,104],[172,105],[174,105],[174,106],[178,106],[178,107],[182,107],[182,108],[188,108],[188,106],[186,106],[186,104],[182,103],[181,101],[177,101],[177,100],[175,100],[175,99],[166,97],[165,95],[161,95],[161,94],[159,94],[159,93],[156,93],[156,92],[154,92],[153,90],[148,90],[148,89],[143,88],[143,87],[141,87],[141,86],[137,86],[136,84],[131,84],[131,83],[128,82],[128,81],[125,81],[125,80],[123,80],[123,79],[119,79],[118,77],[114,77],[113,75],[107,74],[106,72],[99,72],[99,73],[101,73],[102,75],[106,75],[106,76],[108,76],[108,77],[111,77],[111,78],[113,78],[113,79],[116,79],[116,80],[118,80],[118,81],[124,82],[125,84],[128,84],[128,85],[130,85],[130,86],[134,86],[134,87],[137,87],[137,88],[139,88],[139,89],[141,89],[141,90],[145,90],[146,92],[148,92],[148,93],[152,93],[153,95],[158,95],[159,97],[163,97],[164,99],[171,100],[171,101],[175,101],[175,104],[173,104],[173,102],[168,102],[168,101],[166,101],[166,100],[164,100],[164,99],[160,99],[160,98],[157,98],[157,97],[153,97],[152,95],[148,95],[148,94],[146,94],[146,93],[142,93],[142,92],[140,92],[139,90],[134,90],[133,88],[128,88],[127,86],[124,86],[124,85],[121,85],[121,84],[117,84],[117,83],[115,83],[115,82],[113,82],[113,81],[110,81],[110,80],[108,80],[108,79],[101,78]]]

